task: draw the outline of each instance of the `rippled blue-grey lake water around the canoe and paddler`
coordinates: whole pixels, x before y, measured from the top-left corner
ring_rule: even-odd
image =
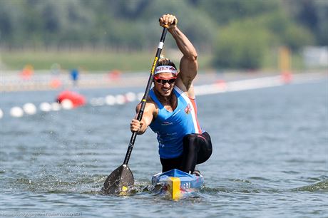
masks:
[[[128,90],[127,90],[128,89]],[[81,90],[87,98],[143,88]],[[57,92],[1,93],[6,111]],[[139,135],[135,193],[98,193],[122,164],[135,104],[0,120],[0,217],[328,217],[328,81],[197,98],[213,153],[200,192],[178,202],[152,192],[155,134]]]

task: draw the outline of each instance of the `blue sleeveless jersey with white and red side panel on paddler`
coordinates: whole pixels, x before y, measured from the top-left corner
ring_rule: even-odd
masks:
[[[158,116],[150,124],[150,128],[157,133],[159,154],[164,159],[182,155],[185,135],[203,133],[198,124],[195,99],[189,98],[176,86],[173,92],[178,98],[178,105],[170,112],[160,103],[153,89],[150,90],[150,98],[158,106]]]

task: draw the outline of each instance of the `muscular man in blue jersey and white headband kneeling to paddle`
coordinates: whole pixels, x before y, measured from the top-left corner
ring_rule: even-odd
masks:
[[[162,172],[172,169],[199,175],[195,165],[205,162],[212,154],[210,135],[198,123],[193,79],[197,75],[197,52],[177,26],[178,19],[165,14],[160,26],[168,25],[178,48],[183,53],[180,71],[168,58],[160,58],[154,73],[143,119],[133,119],[130,130],[138,135],[150,126],[157,133]],[[136,111],[140,110],[140,104]]]

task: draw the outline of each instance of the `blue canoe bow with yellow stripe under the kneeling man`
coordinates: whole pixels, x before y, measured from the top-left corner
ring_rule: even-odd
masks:
[[[161,185],[163,192],[167,192],[170,199],[178,200],[188,193],[202,188],[204,177],[203,175],[190,175],[187,172],[173,169],[153,175],[151,183],[153,186]]]

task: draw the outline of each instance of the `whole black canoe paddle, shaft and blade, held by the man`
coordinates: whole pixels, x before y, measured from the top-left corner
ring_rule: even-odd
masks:
[[[151,85],[153,83],[154,71],[158,64],[158,58],[160,58],[160,53],[164,46],[165,36],[168,32],[168,25],[163,28],[162,36],[160,36],[160,43],[156,51],[156,56],[153,62],[153,66],[150,70],[150,76],[148,79],[147,87],[145,88],[145,94],[141,100],[141,107],[137,115],[137,120],[141,121],[143,118],[143,111],[145,110],[145,104],[149,95]],[[130,155],[133,149],[135,138],[137,137],[137,132],[133,132],[130,138],[130,143],[128,145],[128,151],[126,152],[123,165],[114,170],[111,175],[109,175],[106,181],[103,183],[101,193],[103,194],[125,194],[128,190],[133,189],[134,179],[130,168],[128,167],[128,161],[130,160]]]

